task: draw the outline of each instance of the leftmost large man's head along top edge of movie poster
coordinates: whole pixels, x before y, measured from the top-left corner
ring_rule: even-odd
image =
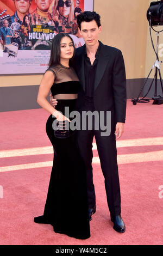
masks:
[[[24,16],[29,15],[29,8],[32,0],[13,0],[15,4],[15,14],[11,16],[11,21],[14,22],[14,18],[17,18],[18,23],[23,22]]]

